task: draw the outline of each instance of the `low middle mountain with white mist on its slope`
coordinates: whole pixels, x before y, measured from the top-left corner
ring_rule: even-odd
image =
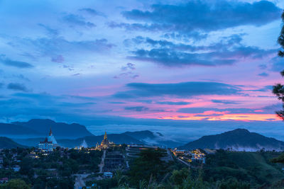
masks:
[[[168,139],[167,137],[163,136],[163,134],[160,134],[160,132],[151,132],[149,130],[143,130],[136,132],[124,132],[122,134],[126,134],[135,139],[139,139],[145,144],[153,144],[170,148],[182,145],[181,142],[176,142],[173,139]]]

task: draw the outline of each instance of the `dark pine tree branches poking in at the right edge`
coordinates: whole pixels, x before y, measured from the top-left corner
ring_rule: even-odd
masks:
[[[282,21],[284,23],[284,11],[282,13]],[[278,43],[279,45],[281,45],[281,50],[279,50],[278,52],[278,56],[279,57],[284,57],[284,25],[281,29],[280,35],[278,37]],[[284,77],[284,70],[280,71],[281,76]],[[283,84],[275,84],[275,86],[273,86],[273,93],[278,97],[279,101],[282,101],[283,103],[283,110],[278,110],[276,111],[276,114],[282,119],[284,120],[284,85]]]

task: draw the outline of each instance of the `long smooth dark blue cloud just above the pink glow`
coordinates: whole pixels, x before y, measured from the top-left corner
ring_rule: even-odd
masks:
[[[200,96],[200,95],[231,95],[240,93],[240,88],[217,82],[191,81],[176,84],[130,83],[129,91],[114,94],[116,98],[136,98],[148,96]]]

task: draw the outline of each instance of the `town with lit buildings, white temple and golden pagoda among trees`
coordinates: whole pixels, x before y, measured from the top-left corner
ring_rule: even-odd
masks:
[[[33,183],[33,188],[55,187],[58,183],[69,188],[94,188],[98,181],[113,178],[117,171],[128,171],[130,162],[141,151],[163,152],[161,161],[178,160],[184,167],[205,164],[206,151],[196,149],[165,149],[145,144],[114,144],[107,132],[101,144],[89,147],[85,140],[75,148],[60,147],[52,130],[38,147],[28,149],[2,149],[0,152],[0,183],[22,178]],[[191,165],[192,164],[192,165]],[[74,186],[73,186],[74,185]]]

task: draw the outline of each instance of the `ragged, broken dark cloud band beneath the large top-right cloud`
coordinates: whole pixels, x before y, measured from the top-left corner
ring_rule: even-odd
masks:
[[[129,59],[155,62],[167,67],[230,65],[246,58],[261,59],[275,53],[275,50],[262,50],[259,47],[243,45],[241,40],[241,35],[231,35],[211,45],[193,46],[137,36],[125,40],[124,44],[142,46],[132,51],[133,55],[129,56]],[[145,49],[145,45],[150,46],[151,49]]]

